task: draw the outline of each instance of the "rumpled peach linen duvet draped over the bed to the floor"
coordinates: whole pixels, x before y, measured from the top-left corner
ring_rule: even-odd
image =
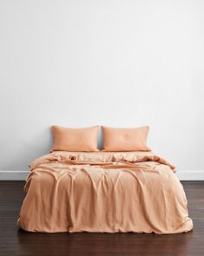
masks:
[[[151,152],[55,151],[30,164],[18,226],[30,232],[182,233],[175,167]]]

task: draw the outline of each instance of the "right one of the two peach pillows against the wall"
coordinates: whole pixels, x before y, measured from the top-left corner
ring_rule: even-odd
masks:
[[[150,151],[146,146],[149,127],[108,128],[102,126],[104,151]]]

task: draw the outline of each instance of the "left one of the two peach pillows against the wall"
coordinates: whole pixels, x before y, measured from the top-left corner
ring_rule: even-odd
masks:
[[[91,128],[63,128],[52,126],[52,151],[98,151],[99,126]]]

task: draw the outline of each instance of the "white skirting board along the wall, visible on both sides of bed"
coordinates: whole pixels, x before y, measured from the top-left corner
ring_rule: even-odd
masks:
[[[29,171],[0,171],[0,181],[24,181]],[[180,181],[204,181],[204,170],[183,170],[176,172]]]

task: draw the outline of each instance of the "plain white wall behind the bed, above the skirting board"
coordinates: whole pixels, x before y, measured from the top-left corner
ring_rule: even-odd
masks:
[[[0,170],[47,154],[53,124],[150,125],[204,170],[203,114],[204,1],[0,1]]]

